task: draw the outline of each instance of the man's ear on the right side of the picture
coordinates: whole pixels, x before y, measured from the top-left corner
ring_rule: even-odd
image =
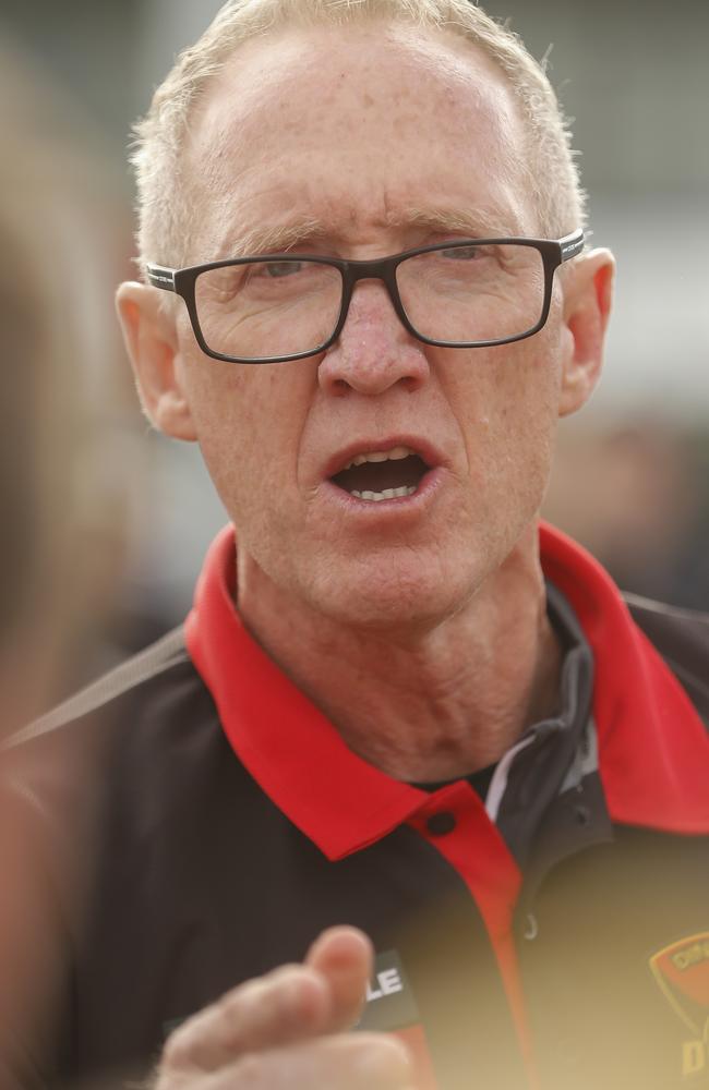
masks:
[[[614,272],[613,255],[608,250],[592,250],[577,257],[566,274],[560,416],[580,409],[600,377]]]

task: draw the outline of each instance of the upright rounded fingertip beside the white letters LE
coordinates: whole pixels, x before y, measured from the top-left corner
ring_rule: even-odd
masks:
[[[372,944],[357,928],[329,928],[308,950],[305,965],[321,972],[329,984],[331,1032],[349,1029],[358,1020],[373,961]]]

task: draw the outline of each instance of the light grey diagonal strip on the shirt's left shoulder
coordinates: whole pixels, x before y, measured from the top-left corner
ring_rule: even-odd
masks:
[[[34,723],[27,724],[26,727],[11,735],[0,746],[0,752],[14,749],[16,746],[49,734],[72,719],[82,718],[104,704],[116,700],[129,689],[143,685],[172,666],[189,662],[189,658],[184,645],[183,627],[180,625],[136,655],[120,663],[98,680],[92,681],[84,689],[47,712],[46,715],[41,715]]]

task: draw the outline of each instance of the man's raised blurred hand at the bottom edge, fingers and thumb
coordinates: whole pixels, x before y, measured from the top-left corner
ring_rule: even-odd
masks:
[[[401,1042],[347,1032],[371,971],[362,932],[323,932],[302,965],[240,984],[176,1030],[155,1090],[410,1090]]]

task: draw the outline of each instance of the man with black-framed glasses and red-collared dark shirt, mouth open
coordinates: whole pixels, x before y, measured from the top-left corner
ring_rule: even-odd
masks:
[[[105,770],[55,1069],[706,1079],[708,623],[538,525],[613,268],[545,77],[458,0],[229,3],[140,136],[119,312],[232,526],[15,747]]]

